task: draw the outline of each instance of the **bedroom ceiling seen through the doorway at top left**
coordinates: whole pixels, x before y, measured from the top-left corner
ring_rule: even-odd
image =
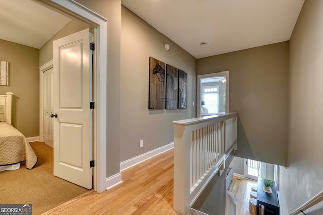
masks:
[[[41,48],[71,19],[31,0],[0,0],[0,39]]]

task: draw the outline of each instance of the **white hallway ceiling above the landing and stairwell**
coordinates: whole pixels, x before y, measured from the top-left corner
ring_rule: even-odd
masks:
[[[198,59],[289,40],[304,0],[121,2]]]

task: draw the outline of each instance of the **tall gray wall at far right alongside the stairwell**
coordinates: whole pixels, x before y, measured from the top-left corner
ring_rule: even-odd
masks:
[[[322,26],[323,1],[306,0],[290,39],[289,165],[280,168],[282,214],[323,190]]]

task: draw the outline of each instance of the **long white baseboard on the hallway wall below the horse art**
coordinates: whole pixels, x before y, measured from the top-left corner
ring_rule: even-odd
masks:
[[[165,146],[159,147],[157,149],[151,150],[144,154],[138,155],[134,158],[123,161],[120,163],[120,172],[173,148],[174,148],[174,142],[171,142],[170,144],[167,144]]]

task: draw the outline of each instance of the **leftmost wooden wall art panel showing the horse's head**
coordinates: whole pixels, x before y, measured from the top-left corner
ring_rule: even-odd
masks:
[[[165,108],[165,63],[149,58],[149,109]]]

